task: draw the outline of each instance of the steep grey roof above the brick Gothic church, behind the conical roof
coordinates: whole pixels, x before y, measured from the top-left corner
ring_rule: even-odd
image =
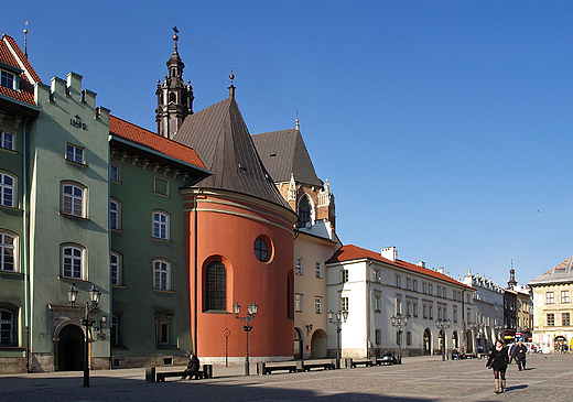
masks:
[[[296,129],[252,135],[262,163],[275,183],[289,182],[291,174],[298,183],[322,187],[301,132]]]

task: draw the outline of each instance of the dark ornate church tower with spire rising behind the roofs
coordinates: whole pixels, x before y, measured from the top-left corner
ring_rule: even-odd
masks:
[[[173,54],[167,61],[167,72],[163,84],[158,79],[158,109],[155,110],[155,121],[158,123],[158,134],[172,139],[183,124],[183,120],[193,115],[193,87],[191,80],[183,80],[183,68],[185,64],[181,61],[177,52],[177,28],[174,26],[173,41],[175,42]]]

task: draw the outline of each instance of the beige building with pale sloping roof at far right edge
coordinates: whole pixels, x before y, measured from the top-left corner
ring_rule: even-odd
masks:
[[[543,352],[569,350],[573,346],[572,263],[573,257],[529,282],[533,291],[533,343]]]

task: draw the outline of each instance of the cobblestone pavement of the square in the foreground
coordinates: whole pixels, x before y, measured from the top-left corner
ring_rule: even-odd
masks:
[[[0,377],[0,401],[572,401],[573,354],[528,356],[528,370],[510,365],[507,392],[494,393],[485,359],[404,358],[403,365],[332,371],[242,376],[242,366],[214,368],[199,381],[147,383],[144,369]],[[158,368],[172,371],[174,368]],[[255,365],[251,373],[256,373]]]

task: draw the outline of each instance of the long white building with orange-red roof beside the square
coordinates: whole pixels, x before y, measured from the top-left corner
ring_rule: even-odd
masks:
[[[475,290],[443,269],[399,260],[393,247],[377,253],[352,245],[342,247],[326,267],[328,309],[348,311],[340,330],[343,358],[380,356],[386,349],[398,355],[399,343],[406,356],[441,354],[444,344],[447,355],[453,348],[466,350],[463,334],[473,317]],[[406,327],[392,326],[390,318],[398,315],[409,317]],[[437,320],[450,323],[445,333]],[[329,325],[331,356],[336,356],[336,329]]]

